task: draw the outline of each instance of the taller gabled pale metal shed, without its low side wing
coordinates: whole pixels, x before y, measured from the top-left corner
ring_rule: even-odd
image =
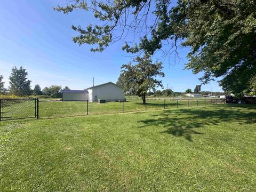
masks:
[[[98,99],[106,99],[106,100],[123,100],[124,99],[124,90],[123,87],[112,83],[103,83],[100,85],[95,85],[85,89],[88,91],[89,99],[98,100]]]

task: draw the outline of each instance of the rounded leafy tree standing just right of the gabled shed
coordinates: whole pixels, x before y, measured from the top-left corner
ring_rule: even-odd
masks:
[[[145,104],[146,94],[149,90],[154,92],[158,86],[163,88],[162,81],[155,78],[157,76],[164,77],[162,62],[152,63],[149,54],[137,57],[133,61],[136,63],[135,65],[132,65],[131,62],[122,65],[124,91],[138,95]]]

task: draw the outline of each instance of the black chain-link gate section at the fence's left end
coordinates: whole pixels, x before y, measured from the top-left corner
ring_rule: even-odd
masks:
[[[38,99],[0,99],[0,121],[37,117]]]

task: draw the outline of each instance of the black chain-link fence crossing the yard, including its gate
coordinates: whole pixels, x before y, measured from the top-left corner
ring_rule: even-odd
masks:
[[[59,118],[130,111],[209,106],[220,99],[38,100],[0,99],[0,121],[20,118]]]

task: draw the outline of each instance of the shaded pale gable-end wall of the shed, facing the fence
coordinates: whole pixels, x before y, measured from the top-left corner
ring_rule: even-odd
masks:
[[[95,99],[95,96],[97,96],[97,99],[124,99],[123,89],[113,83],[92,87],[92,92],[93,99]]]

